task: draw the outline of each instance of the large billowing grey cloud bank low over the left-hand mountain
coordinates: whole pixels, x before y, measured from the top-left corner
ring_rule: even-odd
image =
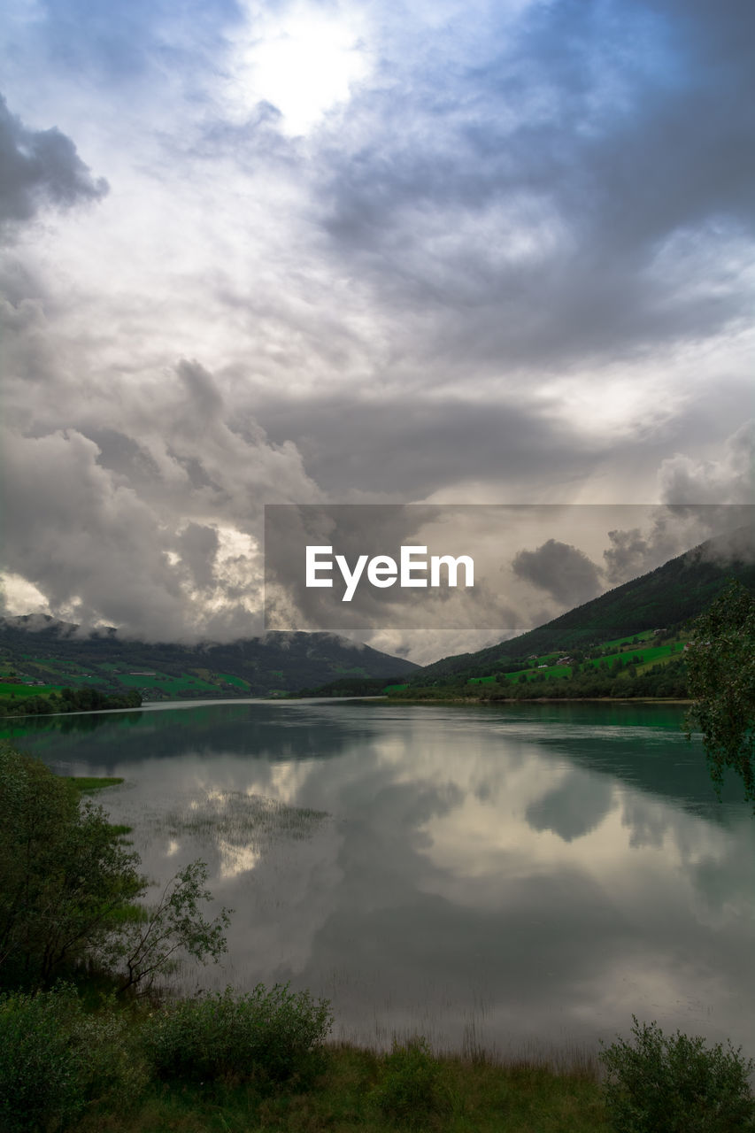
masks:
[[[262,509],[313,496],[292,445],[234,432],[184,361],[151,412],[103,429],[3,436],[6,569],[58,616],[192,640],[262,629]],[[138,437],[138,440],[137,440]],[[200,446],[201,442],[201,446]]]

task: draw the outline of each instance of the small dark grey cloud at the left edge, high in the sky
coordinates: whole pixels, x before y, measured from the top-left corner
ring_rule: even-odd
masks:
[[[69,137],[56,127],[28,129],[0,96],[0,227],[31,220],[44,204],[70,207],[107,191]]]

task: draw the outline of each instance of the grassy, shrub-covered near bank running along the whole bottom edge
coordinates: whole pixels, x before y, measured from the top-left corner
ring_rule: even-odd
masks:
[[[634,1019],[568,1071],[325,1045],[326,999],[288,985],[87,1010],[73,985],[0,995],[6,1133],[755,1133],[755,1063]],[[599,1081],[597,1066],[605,1072]],[[40,1090],[40,1083],[44,1090]]]

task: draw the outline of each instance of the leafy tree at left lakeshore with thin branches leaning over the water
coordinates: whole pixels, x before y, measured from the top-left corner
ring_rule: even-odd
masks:
[[[134,902],[147,878],[101,807],[37,759],[0,744],[0,988],[48,987],[83,961],[120,971],[122,988],[149,983],[179,949],[200,961],[226,948],[222,910],[200,902],[206,867],[181,870],[153,909]]]

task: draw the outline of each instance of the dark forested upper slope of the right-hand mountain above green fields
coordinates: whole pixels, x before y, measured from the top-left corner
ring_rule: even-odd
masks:
[[[568,654],[643,630],[679,627],[702,613],[731,578],[755,593],[755,538],[749,527],[709,539],[519,637],[425,665],[409,684],[478,676],[533,654]]]

